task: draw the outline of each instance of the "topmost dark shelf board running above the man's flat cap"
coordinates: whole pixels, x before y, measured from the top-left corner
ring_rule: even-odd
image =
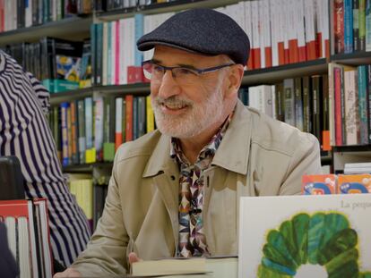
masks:
[[[120,10],[96,13],[99,21],[116,21],[134,16],[134,13],[156,14],[179,12],[191,8],[216,8],[228,4],[237,4],[238,0],[177,0],[168,3],[139,5]]]

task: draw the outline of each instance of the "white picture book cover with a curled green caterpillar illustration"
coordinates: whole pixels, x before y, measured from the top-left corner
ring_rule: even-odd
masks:
[[[371,277],[371,194],[240,199],[238,277]]]

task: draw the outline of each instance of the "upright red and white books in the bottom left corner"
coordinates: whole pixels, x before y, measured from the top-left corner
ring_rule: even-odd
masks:
[[[53,273],[47,200],[1,200],[0,221],[5,223],[9,249],[21,278],[51,278]]]

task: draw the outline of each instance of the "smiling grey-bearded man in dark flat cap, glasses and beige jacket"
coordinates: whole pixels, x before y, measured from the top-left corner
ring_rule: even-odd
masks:
[[[237,254],[241,196],[299,194],[319,173],[318,141],[237,100],[249,41],[228,16],[177,13],[137,42],[154,47],[158,131],[117,151],[96,232],[56,277],[118,275],[140,257]]]

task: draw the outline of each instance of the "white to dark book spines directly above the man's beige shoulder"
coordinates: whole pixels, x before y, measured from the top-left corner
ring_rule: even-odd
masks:
[[[249,87],[240,98],[246,105],[274,119],[314,134],[321,142],[322,150],[328,151],[331,147],[327,80],[327,75],[285,79],[272,86]]]

